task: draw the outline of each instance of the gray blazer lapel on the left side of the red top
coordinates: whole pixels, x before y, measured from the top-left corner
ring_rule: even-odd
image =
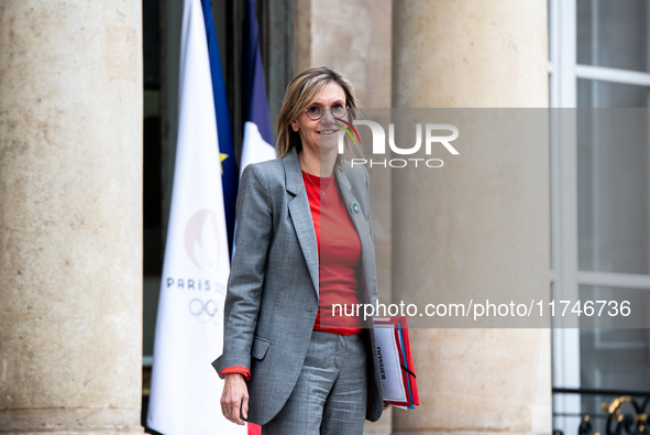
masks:
[[[305,189],[300,163],[295,151],[291,151],[284,159],[286,189],[295,197],[289,202],[289,216],[294,222],[300,249],[307,262],[307,269],[318,296],[318,242],[313,229],[313,219],[311,218],[311,208],[309,198]]]

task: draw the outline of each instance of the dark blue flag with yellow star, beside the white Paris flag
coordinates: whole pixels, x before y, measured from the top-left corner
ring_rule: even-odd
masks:
[[[212,76],[212,95],[217,112],[217,126],[219,126],[219,159],[221,161],[221,186],[223,189],[223,207],[225,211],[225,229],[228,231],[228,246],[232,247],[234,235],[234,208],[239,173],[234,159],[234,144],[230,129],[230,113],[225,99],[225,86],[223,72],[221,70],[221,56],[217,43],[217,32],[212,20],[212,0],[201,0],[206,34],[208,37],[208,53],[210,55],[210,73]]]

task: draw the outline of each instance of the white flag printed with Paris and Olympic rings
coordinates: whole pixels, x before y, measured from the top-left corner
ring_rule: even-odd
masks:
[[[214,101],[200,0],[185,0],[176,166],[147,425],[165,435],[242,434],[219,403],[228,238]]]

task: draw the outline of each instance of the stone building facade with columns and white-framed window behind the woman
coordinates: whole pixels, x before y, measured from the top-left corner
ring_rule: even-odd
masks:
[[[213,4],[235,130],[242,8]],[[143,432],[180,11],[180,0],[0,2],[0,433]],[[283,0],[257,13],[272,115],[293,75],[318,65],[343,72],[368,109],[648,101],[643,1]],[[618,185],[610,144],[541,139],[525,151],[471,141],[431,178],[370,168],[383,300],[646,294],[647,143],[620,157],[641,164]],[[635,216],[626,230],[607,226],[620,207]],[[414,328],[421,404],[366,432],[572,434],[596,400],[581,389],[650,388],[647,329],[550,326]],[[613,357],[614,344],[631,354]]]

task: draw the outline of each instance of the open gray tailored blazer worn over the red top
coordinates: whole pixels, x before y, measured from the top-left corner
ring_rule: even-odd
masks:
[[[365,300],[377,301],[375,251],[363,166],[335,181],[361,240]],[[353,205],[359,207],[353,207]],[[352,208],[356,213],[352,213]],[[361,211],[361,213],[360,213]],[[249,421],[264,425],[284,406],[300,373],[318,312],[318,246],[297,154],[245,167],[236,204],[236,248],[224,308],[223,354],[212,362],[251,370]],[[366,418],[382,415],[372,320],[367,325]]]

